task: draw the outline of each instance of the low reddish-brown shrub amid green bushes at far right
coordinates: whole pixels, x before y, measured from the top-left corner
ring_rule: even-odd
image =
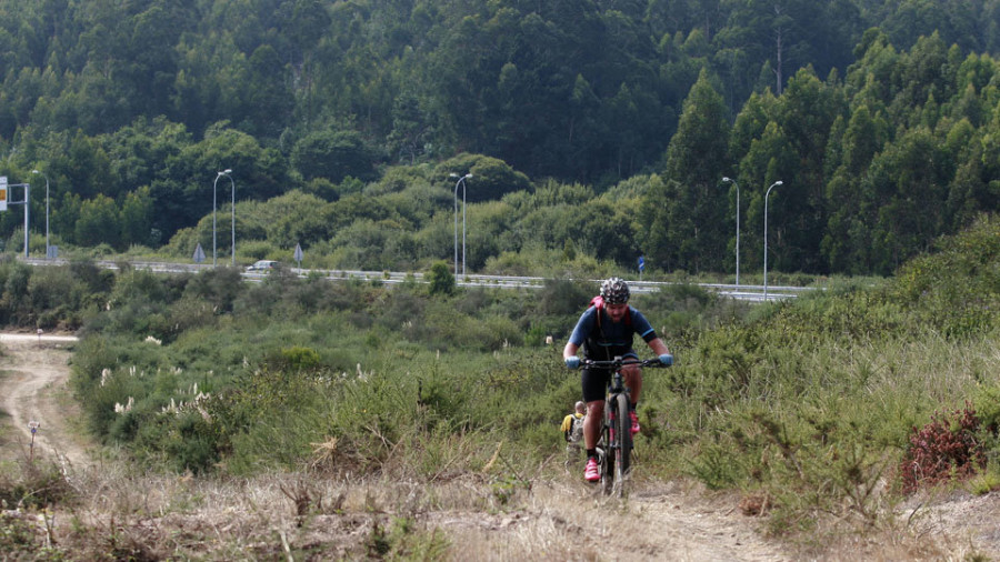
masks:
[[[913,428],[910,446],[899,466],[903,492],[968,478],[986,466],[982,445],[976,439],[978,429],[979,418],[968,403],[964,410],[952,412],[951,420],[934,412],[923,429]]]

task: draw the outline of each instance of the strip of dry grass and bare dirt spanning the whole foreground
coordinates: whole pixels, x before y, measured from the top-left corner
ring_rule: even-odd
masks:
[[[518,485],[482,473],[430,483],[304,472],[137,474],[120,462],[70,466],[64,475],[71,498],[0,521],[0,530],[31,536],[30,544],[0,544],[11,546],[10,559],[58,552],[70,560],[778,561],[979,553],[949,526],[961,518],[927,516],[923,504],[916,514],[906,506],[867,528],[827,520],[782,543],[758,532],[767,514],[743,514],[739,493],[638,474],[626,501],[600,496],[576,473],[544,469]],[[970,516],[977,515],[962,514]]]

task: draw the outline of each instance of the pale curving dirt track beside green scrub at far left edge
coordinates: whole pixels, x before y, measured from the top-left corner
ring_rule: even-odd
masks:
[[[0,358],[0,410],[10,415],[16,431],[0,448],[3,458],[27,451],[31,442],[29,422],[38,422],[36,453],[66,458],[77,465],[89,456],[81,438],[74,435],[69,421],[77,409],[68,397],[67,349],[77,341],[72,335],[0,334],[4,357]]]

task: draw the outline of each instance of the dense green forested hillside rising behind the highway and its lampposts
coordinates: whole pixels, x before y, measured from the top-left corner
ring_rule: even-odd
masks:
[[[998,0],[0,13],[0,173],[32,183],[38,255],[39,185],[66,251],[190,259],[214,193],[237,201],[240,261],[299,243],[312,265],[409,269],[451,259],[450,174],[471,172],[468,264],[513,272],[638,255],[731,272],[738,211],[759,271],[767,203],[772,268],[886,274],[1000,203]],[[4,250],[22,224],[0,213]]]

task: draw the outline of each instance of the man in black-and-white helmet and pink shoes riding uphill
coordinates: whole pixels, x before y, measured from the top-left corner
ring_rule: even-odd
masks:
[[[568,368],[580,367],[580,357],[577,353],[581,345],[584,348],[587,359],[590,360],[610,361],[616,357],[639,359],[632,349],[632,340],[637,333],[653,353],[659,355],[663,364],[673,363],[673,355],[646,317],[629,305],[630,295],[628,283],[619,278],[611,278],[601,283],[600,299],[594,299],[593,305],[580,315],[573,333],[562,350],[562,359]],[[630,390],[629,417],[634,434],[640,429],[636,407],[642,392],[642,370],[634,365],[626,365],[621,369],[621,374]],[[604,391],[610,378],[611,371],[608,369],[583,369],[581,375],[583,401],[587,402],[587,418],[583,422],[587,465],[583,478],[588,482],[601,479],[596,448],[604,415]]]

